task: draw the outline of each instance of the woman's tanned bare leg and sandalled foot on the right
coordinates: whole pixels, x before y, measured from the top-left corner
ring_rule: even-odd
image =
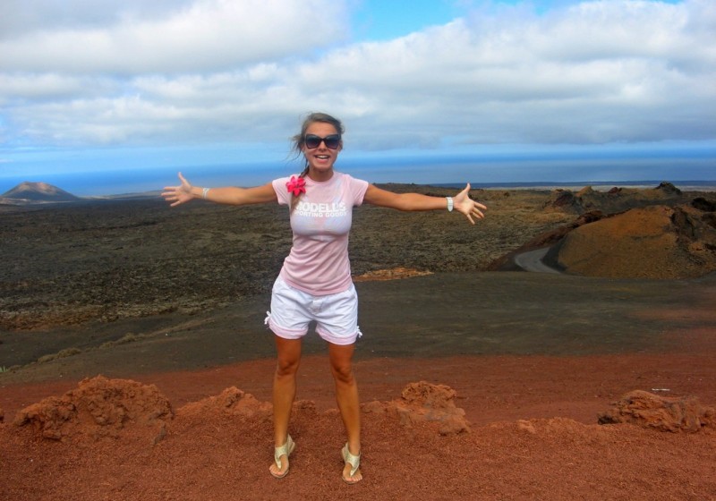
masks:
[[[333,379],[336,382],[336,400],[348,436],[348,450],[351,454],[361,453],[361,409],[358,398],[358,384],[353,373],[354,345],[328,343],[328,356]],[[360,469],[351,477],[351,466],[345,465],[343,478],[348,482],[362,480]]]

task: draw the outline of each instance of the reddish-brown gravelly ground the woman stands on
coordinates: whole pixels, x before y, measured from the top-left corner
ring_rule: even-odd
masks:
[[[260,404],[270,400],[273,361],[141,375],[143,385],[156,386],[158,401],[166,397],[173,418],[147,418],[151,405],[132,414],[132,398],[146,403],[134,391],[114,396],[113,409],[131,417],[124,425],[106,415],[99,426],[85,416],[64,427],[63,440],[12,420],[29,403],[76,390],[76,381],[6,386],[0,498],[714,499],[712,427],[689,433],[597,424],[598,414],[635,389],[716,402],[714,341],[716,331],[706,328],[689,333],[692,348],[682,353],[360,361],[364,480],[356,486],[340,480],[342,425],[318,355],[303,361],[299,398],[311,402],[296,405],[298,446],[283,480],[268,474],[270,414]],[[441,435],[440,420],[401,422],[382,411],[419,380],[456,390],[452,402],[465,410],[469,431]],[[244,396],[242,406],[226,394],[208,398],[231,386],[258,400]]]

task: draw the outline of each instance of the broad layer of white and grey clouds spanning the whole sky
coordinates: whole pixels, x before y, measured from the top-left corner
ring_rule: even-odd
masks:
[[[716,137],[711,0],[490,6],[372,43],[336,1],[82,4],[0,41],[8,141],[277,142],[314,110],[367,150]]]

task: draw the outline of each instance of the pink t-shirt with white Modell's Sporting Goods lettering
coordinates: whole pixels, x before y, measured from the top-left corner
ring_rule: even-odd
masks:
[[[323,183],[308,176],[304,179],[306,192],[291,213],[294,244],[280,275],[286,283],[315,296],[341,293],[352,284],[348,233],[353,208],[362,204],[368,182],[335,171]],[[278,203],[290,207],[289,180],[277,179],[273,187]]]

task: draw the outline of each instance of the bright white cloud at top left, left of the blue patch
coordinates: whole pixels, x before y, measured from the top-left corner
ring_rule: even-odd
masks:
[[[346,12],[327,0],[197,0],[163,17],[125,13],[0,41],[10,72],[212,72],[302,54],[343,38]],[[317,15],[319,14],[319,15]]]

